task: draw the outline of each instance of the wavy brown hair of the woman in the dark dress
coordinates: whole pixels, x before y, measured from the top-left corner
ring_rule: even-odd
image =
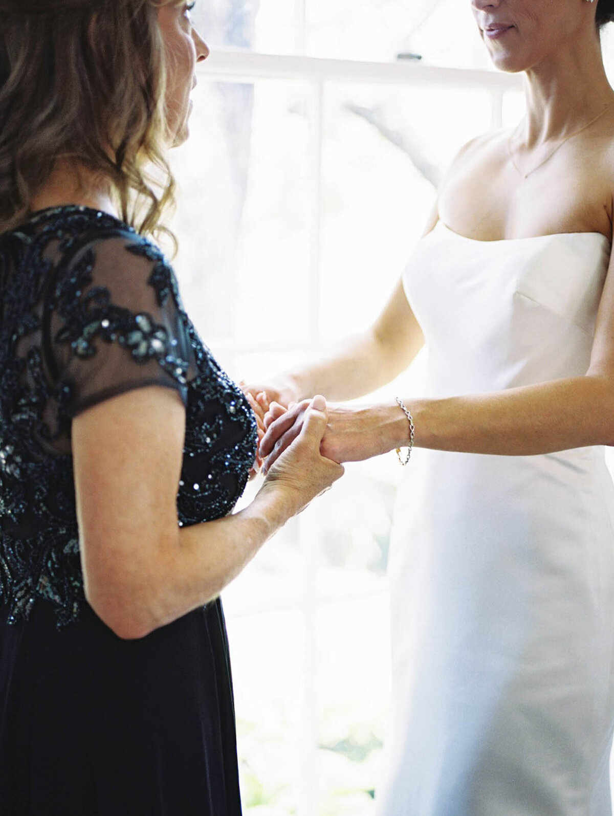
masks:
[[[170,235],[175,202],[157,7],[176,0],[0,0],[0,233],[56,162],[109,183],[122,220]]]

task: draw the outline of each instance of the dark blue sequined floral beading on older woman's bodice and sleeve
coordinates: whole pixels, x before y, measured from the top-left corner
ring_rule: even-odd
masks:
[[[161,307],[176,310],[179,336],[152,314],[113,302],[109,290],[95,284],[96,246],[105,237],[122,238],[127,255],[151,264],[147,284]],[[54,261],[47,253],[51,243],[59,248]],[[87,251],[63,274],[66,259],[81,246]],[[61,628],[78,619],[86,601],[70,453],[74,384],[53,375],[45,308],[62,318],[52,345],[69,348],[80,364],[96,360],[106,344],[118,344],[133,365],[155,361],[184,394],[179,526],[234,508],[255,457],[256,419],[202,344],[162,252],[112,216],[56,207],[0,235],[0,282],[0,602],[8,605],[8,623],[28,619],[38,602],[51,603]],[[20,353],[22,341],[26,353]]]

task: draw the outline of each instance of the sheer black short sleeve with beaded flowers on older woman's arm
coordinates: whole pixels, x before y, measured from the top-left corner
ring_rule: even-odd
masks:
[[[105,233],[60,263],[47,296],[48,366],[70,418],[134,388],[194,376],[175,273],[137,233]]]

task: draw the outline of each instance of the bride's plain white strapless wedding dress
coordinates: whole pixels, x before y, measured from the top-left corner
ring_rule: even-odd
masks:
[[[584,375],[609,249],[598,233],[481,242],[440,222],[403,279],[430,394]],[[610,816],[613,519],[601,447],[416,450],[389,562],[380,816]]]

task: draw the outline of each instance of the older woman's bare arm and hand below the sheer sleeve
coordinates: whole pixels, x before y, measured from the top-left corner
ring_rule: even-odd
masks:
[[[151,386],[73,419],[73,470],[87,601],[122,638],[138,638],[211,601],[288,518],[340,477],[318,448],[326,409],[235,515],[180,529],[176,495],[185,408]]]

